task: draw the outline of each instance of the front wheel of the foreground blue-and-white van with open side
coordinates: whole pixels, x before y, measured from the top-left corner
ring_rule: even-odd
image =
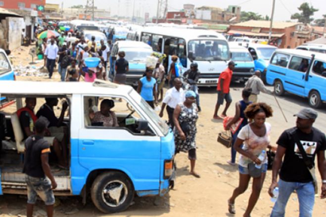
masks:
[[[114,190],[115,192],[109,192]],[[91,198],[95,207],[101,212],[118,213],[130,206],[134,200],[134,192],[134,186],[127,175],[120,172],[107,172],[95,178]],[[120,194],[120,196],[113,195],[113,193]],[[119,198],[120,201],[114,198]]]

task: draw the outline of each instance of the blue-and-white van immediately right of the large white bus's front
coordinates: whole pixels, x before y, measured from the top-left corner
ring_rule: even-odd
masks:
[[[236,64],[232,80],[244,81],[251,77],[254,73],[255,63],[250,52],[243,46],[230,45],[230,53],[231,60]]]

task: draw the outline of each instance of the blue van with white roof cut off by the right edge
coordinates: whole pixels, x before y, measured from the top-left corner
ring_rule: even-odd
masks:
[[[326,101],[326,54],[300,49],[278,49],[267,68],[266,81],[276,95],[285,91],[307,97],[320,108]]]

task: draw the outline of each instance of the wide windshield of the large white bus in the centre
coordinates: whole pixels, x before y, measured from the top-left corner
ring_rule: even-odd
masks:
[[[188,42],[188,53],[190,52],[197,61],[230,59],[228,43],[222,40],[191,40]]]

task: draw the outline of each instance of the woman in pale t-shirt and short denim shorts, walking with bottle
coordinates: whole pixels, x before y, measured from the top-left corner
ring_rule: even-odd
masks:
[[[266,149],[272,148],[272,146],[270,145],[271,125],[265,120],[272,117],[273,110],[266,103],[252,103],[244,110],[244,114],[253,122],[239,131],[234,143],[234,149],[240,153],[238,165],[239,185],[233,190],[228,203],[229,213],[235,214],[235,199],[245,192],[250,178],[253,177],[252,192],[247,209],[243,214],[243,217],[250,217],[259,198],[267,172]]]

